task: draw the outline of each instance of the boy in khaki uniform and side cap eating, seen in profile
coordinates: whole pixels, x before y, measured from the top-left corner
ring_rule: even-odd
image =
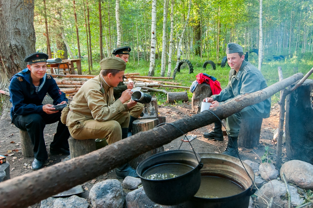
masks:
[[[117,57],[100,61],[100,75],[88,80],[69,105],[66,126],[75,139],[106,138],[108,144],[127,137],[129,112],[137,102],[131,99],[131,90],[125,90],[117,100],[113,87],[123,80],[126,62]],[[129,101],[129,102],[126,102]],[[138,177],[127,163],[115,169],[118,178]]]

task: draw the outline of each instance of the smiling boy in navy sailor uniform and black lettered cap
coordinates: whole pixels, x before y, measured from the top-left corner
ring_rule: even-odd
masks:
[[[46,124],[59,121],[53,142],[50,144],[50,153],[69,154],[69,130],[60,121],[61,110],[55,111],[53,105],[67,103],[68,99],[60,91],[55,80],[48,74],[48,55],[34,53],[25,58],[27,68],[13,75],[9,86],[10,102],[12,102],[12,123],[21,130],[27,131],[34,148],[34,161],[32,169],[43,167],[48,159],[44,141],[44,127]],[[42,101],[49,93],[53,99],[52,104],[43,105]]]

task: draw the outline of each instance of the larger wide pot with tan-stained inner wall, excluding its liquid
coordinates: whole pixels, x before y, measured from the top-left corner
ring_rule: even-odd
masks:
[[[242,166],[239,159],[216,153],[199,153],[203,168],[201,175],[218,176],[229,179],[240,185],[244,191],[233,196],[223,198],[200,198],[192,197],[187,202],[175,205],[175,208],[248,208],[250,196],[255,190],[253,186],[254,172],[248,164]]]

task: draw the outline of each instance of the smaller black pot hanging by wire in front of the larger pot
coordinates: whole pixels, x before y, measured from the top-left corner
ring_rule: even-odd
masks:
[[[196,157],[197,156],[197,157]],[[137,174],[146,195],[161,205],[177,205],[190,200],[201,184],[200,156],[188,150],[171,150],[145,159],[137,167]],[[150,174],[177,174],[169,179],[146,179]]]

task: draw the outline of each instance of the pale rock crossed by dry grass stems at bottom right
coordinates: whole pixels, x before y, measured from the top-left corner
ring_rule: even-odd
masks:
[[[274,195],[274,200],[273,200],[274,203],[272,205],[272,208],[279,208],[279,207],[288,208],[288,197],[286,197],[287,190],[286,190],[285,183],[280,182],[277,179],[264,184],[260,188],[260,191],[256,192],[256,195],[262,196],[263,198],[267,197],[268,202],[269,202],[269,199],[273,197],[273,189],[274,189],[275,195]],[[300,198],[300,195],[297,192],[297,188],[291,185],[288,185],[288,190],[291,196],[291,199],[290,199],[291,207],[296,207],[304,202],[304,200]],[[259,208],[267,207],[266,202],[264,202],[264,200],[261,199],[260,197],[256,198],[256,203],[258,204]]]

